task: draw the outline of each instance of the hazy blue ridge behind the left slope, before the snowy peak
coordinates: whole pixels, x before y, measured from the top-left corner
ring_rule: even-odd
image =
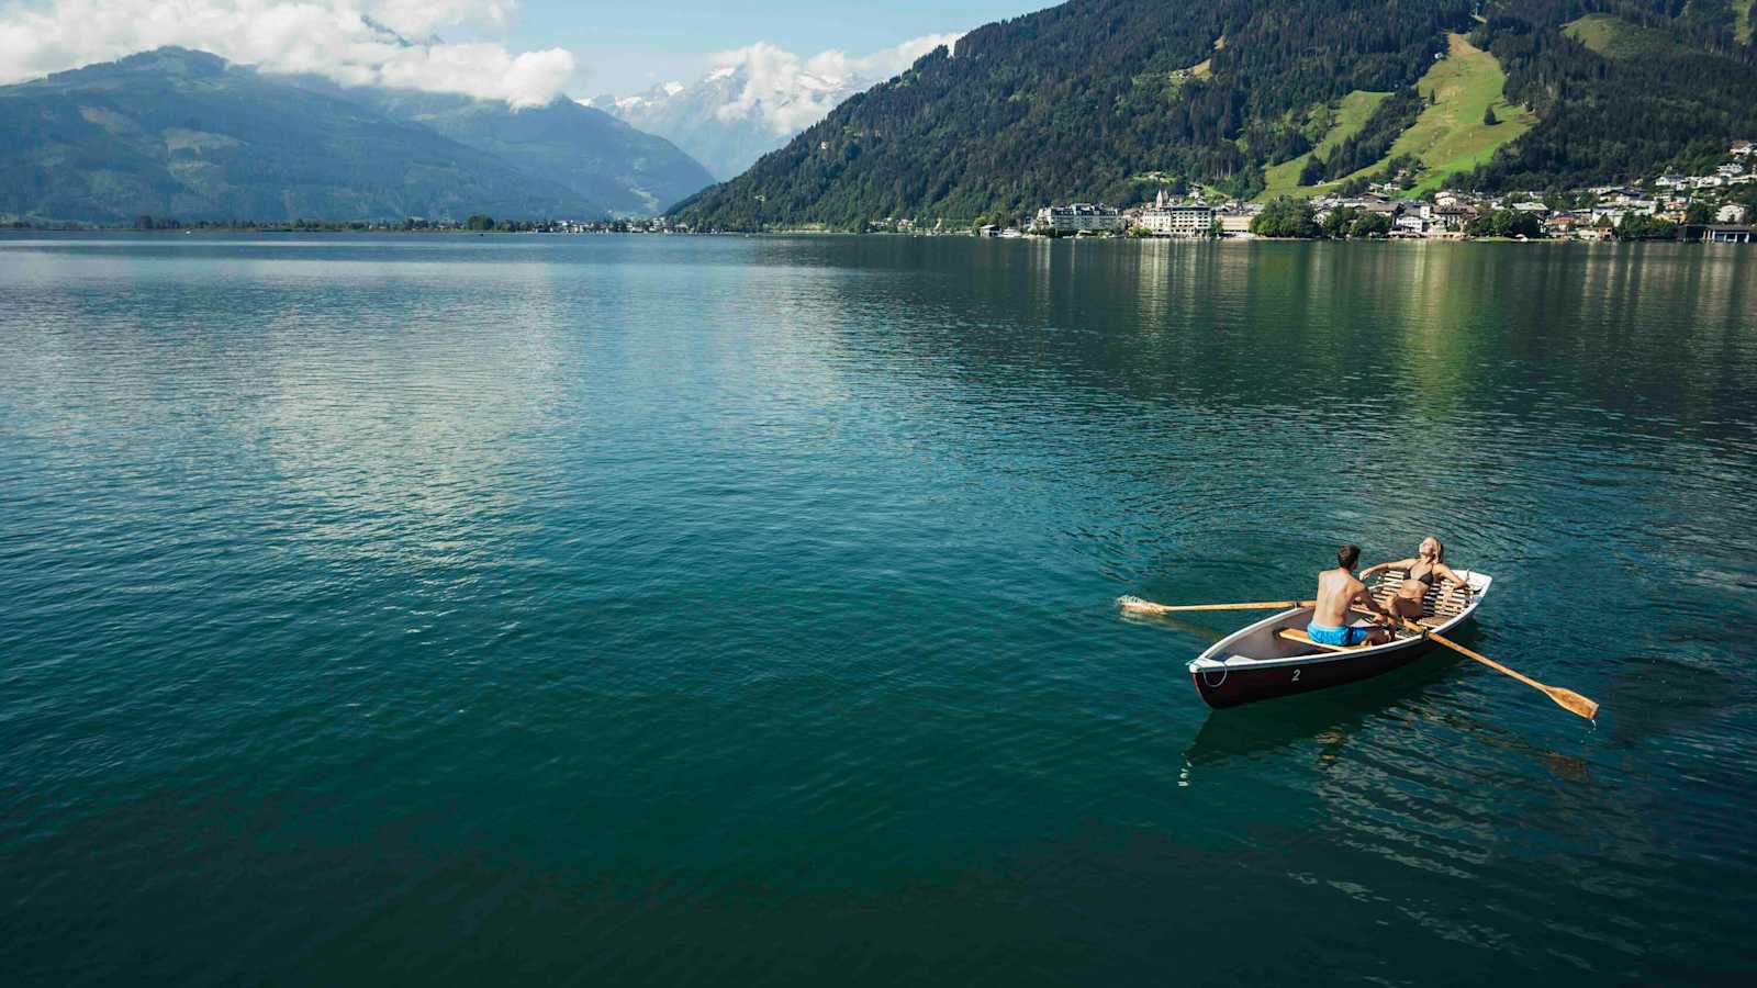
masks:
[[[610,114],[557,98],[543,107],[452,93],[353,90],[387,116],[497,155],[520,171],[562,185],[618,216],[652,216],[713,185],[699,162],[664,137]]]

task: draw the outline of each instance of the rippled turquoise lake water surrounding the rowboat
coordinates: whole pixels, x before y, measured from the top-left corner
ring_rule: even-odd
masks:
[[[1757,974],[1757,251],[0,237],[9,984]],[[1425,534],[1462,638],[1211,714]]]

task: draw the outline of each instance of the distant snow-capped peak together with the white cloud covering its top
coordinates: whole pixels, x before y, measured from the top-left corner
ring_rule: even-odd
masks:
[[[842,100],[958,37],[926,35],[866,56],[829,49],[810,58],[757,42],[717,54],[713,69],[696,83],[664,83],[645,93],[583,102],[671,141],[726,181]]]

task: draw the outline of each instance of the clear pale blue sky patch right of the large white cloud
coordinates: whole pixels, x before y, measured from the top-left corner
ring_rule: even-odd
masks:
[[[912,37],[970,30],[1052,0],[520,0],[508,47],[560,46],[578,62],[576,95],[631,93],[699,76],[708,54],[759,40],[799,54],[866,54]]]

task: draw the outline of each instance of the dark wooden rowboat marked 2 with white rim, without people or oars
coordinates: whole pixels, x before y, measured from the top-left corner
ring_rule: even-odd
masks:
[[[1420,624],[1448,633],[1481,607],[1493,580],[1486,573],[1460,571],[1469,587],[1448,582],[1428,587],[1421,599]],[[1406,573],[1388,570],[1372,596],[1385,603]],[[1385,645],[1318,645],[1305,636],[1312,608],[1284,610],[1216,642],[1189,663],[1189,679],[1209,707],[1237,707],[1258,700],[1311,693],[1392,672],[1425,654],[1434,643],[1425,635],[1399,631]],[[1355,624],[1370,624],[1362,619]]]

